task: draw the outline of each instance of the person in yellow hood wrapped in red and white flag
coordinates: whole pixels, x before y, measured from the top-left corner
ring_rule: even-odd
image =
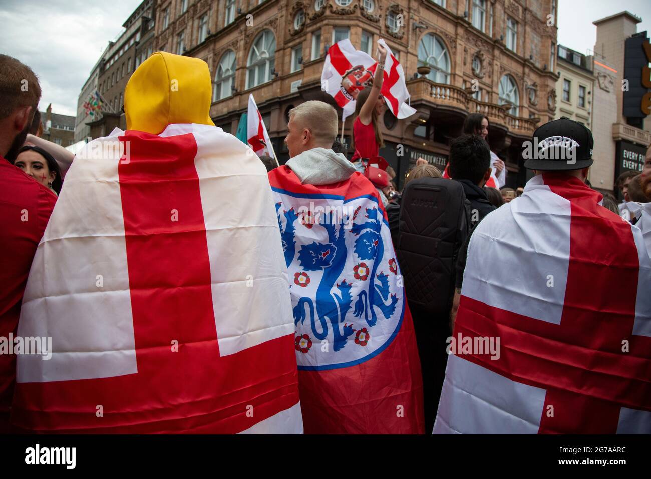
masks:
[[[77,154],[25,288],[18,335],[52,351],[18,356],[14,428],[302,432],[268,177],[212,124],[210,90],[203,61],[154,53],[128,130]]]

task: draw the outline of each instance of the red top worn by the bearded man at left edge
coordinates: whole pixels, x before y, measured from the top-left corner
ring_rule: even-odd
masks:
[[[0,336],[16,334],[27,274],[57,197],[0,156]],[[9,352],[9,351],[7,351]],[[13,349],[12,351],[13,352]],[[16,356],[0,354],[0,433],[7,431]]]

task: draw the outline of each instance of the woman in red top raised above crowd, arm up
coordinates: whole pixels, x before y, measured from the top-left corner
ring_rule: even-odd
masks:
[[[382,97],[382,81],[384,76],[384,61],[387,49],[378,42],[380,58],[373,77],[373,86],[367,87],[357,94],[355,104],[355,121],[353,122],[353,154],[352,162],[359,158],[378,156],[380,147],[384,145],[380,133],[380,119],[386,107]]]

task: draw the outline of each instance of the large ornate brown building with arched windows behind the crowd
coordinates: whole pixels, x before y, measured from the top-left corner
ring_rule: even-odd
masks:
[[[320,78],[327,48],[342,38],[372,56],[385,38],[406,72],[417,113],[387,113],[382,126],[396,171],[417,156],[445,166],[450,140],[477,111],[508,184],[523,184],[521,144],[555,115],[556,0],[159,0],[156,10],[156,50],[208,63],[215,124],[234,134],[253,93],[281,160],[288,111],[334,104]]]

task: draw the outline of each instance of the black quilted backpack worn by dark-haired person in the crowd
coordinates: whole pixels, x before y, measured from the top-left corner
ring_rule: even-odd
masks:
[[[447,317],[456,258],[472,228],[470,201],[459,182],[420,178],[405,186],[396,255],[410,305]]]

